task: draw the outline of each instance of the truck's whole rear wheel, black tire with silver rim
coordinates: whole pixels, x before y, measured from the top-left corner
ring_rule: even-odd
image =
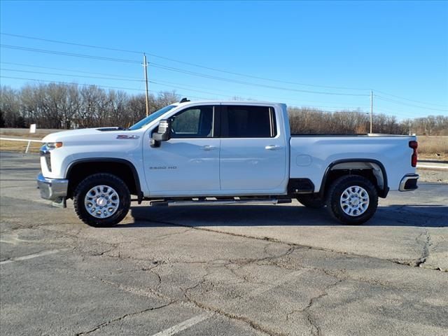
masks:
[[[364,195],[363,197],[356,198],[354,197],[353,204],[350,203],[350,196],[346,197],[347,195],[353,195],[352,191],[359,190],[355,187],[363,188],[363,190],[367,193],[367,197],[365,197],[365,193],[361,191],[361,195]],[[346,192],[346,190],[350,189]],[[342,194],[344,193],[344,207],[345,211],[341,205],[342,200]],[[365,208],[361,209],[363,205],[359,205],[356,203],[357,201],[363,201],[368,200],[365,204]],[[363,203],[362,202],[362,203]],[[372,216],[374,215],[375,211],[377,211],[378,207],[378,192],[377,189],[374,187],[372,182],[365,179],[363,176],[358,175],[346,175],[339,177],[336,181],[334,181],[327,193],[327,199],[326,199],[327,209],[330,211],[330,214],[333,218],[337,219],[337,221],[349,224],[349,225],[358,225],[363,224],[367,222]],[[367,205],[368,204],[368,205]],[[355,208],[358,208],[360,210],[353,210]],[[351,211],[353,210],[353,211]],[[351,215],[347,214],[346,211],[351,212]]]

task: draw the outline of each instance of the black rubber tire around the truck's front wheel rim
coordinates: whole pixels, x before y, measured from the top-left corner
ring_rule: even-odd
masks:
[[[108,210],[102,210],[103,208],[108,207],[107,205],[104,205],[104,207],[101,207],[101,204],[93,205],[93,207],[100,207],[101,209],[98,209],[98,211],[94,212],[95,208],[93,208],[92,213],[97,214],[97,216],[102,216],[101,213],[103,211],[105,214],[104,216],[108,216],[106,218],[98,218],[97,216],[90,214],[90,212],[86,209],[87,206],[85,205],[85,197],[87,193],[89,193],[90,190],[94,189],[96,186],[106,186],[115,191],[116,193],[112,193],[115,202],[118,197],[118,202],[114,203],[118,205],[116,205],[116,207],[114,208],[108,208]],[[105,188],[103,190],[109,191]],[[109,198],[107,199],[109,200]],[[112,203],[114,201],[111,198],[110,202]],[[106,202],[108,202],[109,204],[109,201]],[[112,174],[100,173],[87,176],[83,181],[81,181],[81,183],[79,183],[78,187],[76,187],[76,190],[73,193],[73,207],[75,209],[76,215],[78,215],[78,218],[81,221],[83,221],[87,225],[94,226],[95,228],[106,228],[120,223],[120,221],[123,221],[123,218],[125,218],[125,216],[127,215],[127,211],[129,211],[130,205],[131,197],[129,189],[127,188],[123,180]],[[112,209],[115,212],[113,212],[112,215],[106,214],[109,209]]]

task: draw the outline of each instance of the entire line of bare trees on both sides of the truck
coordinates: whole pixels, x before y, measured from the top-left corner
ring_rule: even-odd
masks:
[[[181,97],[176,92],[150,94],[149,110],[161,109]],[[326,112],[309,107],[290,107],[294,134],[365,134],[370,116],[365,111]],[[73,129],[129,127],[146,116],[144,94],[104,90],[95,85],[48,83],[25,85],[15,90],[0,87],[0,127]],[[448,135],[448,116],[428,116],[398,121],[395,116],[375,113],[373,132],[387,134]]]

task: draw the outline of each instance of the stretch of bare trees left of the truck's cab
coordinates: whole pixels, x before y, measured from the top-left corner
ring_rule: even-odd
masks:
[[[149,95],[149,111],[179,102],[175,92]],[[129,127],[146,116],[144,94],[104,90],[95,85],[36,84],[20,90],[0,88],[1,127],[72,129]]]

